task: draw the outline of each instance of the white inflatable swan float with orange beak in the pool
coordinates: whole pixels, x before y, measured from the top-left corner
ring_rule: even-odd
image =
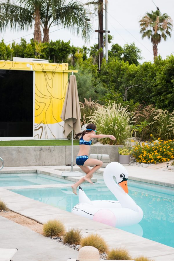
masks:
[[[108,224],[110,226],[131,226],[143,218],[142,209],[127,194],[128,172],[118,162],[109,163],[103,173],[104,182],[115,195],[116,200],[90,200],[79,186],[79,204],[72,213]],[[116,178],[117,183],[113,179]]]

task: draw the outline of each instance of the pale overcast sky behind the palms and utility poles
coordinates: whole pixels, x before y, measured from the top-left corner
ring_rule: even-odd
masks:
[[[86,2],[86,0],[82,0]],[[105,1],[104,1],[105,2]],[[143,61],[153,61],[153,50],[152,44],[149,39],[142,39],[139,33],[140,26],[138,21],[144,16],[146,12],[155,11],[156,6],[160,8],[162,14],[167,13],[174,20],[174,2],[173,0],[108,0],[108,30],[110,34],[113,35],[113,43],[118,43],[121,46],[124,44],[135,42],[135,45],[142,50]],[[98,17],[93,18],[93,31],[98,29]],[[104,14],[104,24],[105,24],[105,14]],[[105,27],[105,26],[104,26]],[[70,40],[71,44],[74,46],[83,46],[85,42],[81,37],[77,37],[71,34],[66,29],[61,29],[62,26],[54,26],[50,28],[50,40],[61,39],[64,41]],[[57,30],[55,32],[52,32]],[[13,32],[9,29],[6,30],[6,33],[0,34],[0,39],[4,39],[7,43],[13,39],[24,37],[26,40],[32,38],[33,30]],[[169,37],[166,42],[164,40],[158,45],[158,54],[162,56],[163,59],[167,55],[174,54],[174,30],[171,32],[172,36]],[[28,36],[25,36],[28,35]],[[20,42],[20,39],[15,40]],[[11,43],[11,42],[8,42]],[[92,46],[93,44],[98,43],[98,34],[93,32],[91,35],[90,43],[86,44],[87,46]]]

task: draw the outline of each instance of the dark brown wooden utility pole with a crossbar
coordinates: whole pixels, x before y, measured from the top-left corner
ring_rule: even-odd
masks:
[[[99,4],[99,8],[98,8],[99,30],[95,30],[95,32],[99,33],[99,44],[98,44],[98,50],[99,50],[100,48],[104,49],[103,33],[106,31],[103,30],[103,0],[99,0],[98,4]],[[99,71],[102,64],[102,59],[103,59],[103,50],[102,52],[99,52]]]

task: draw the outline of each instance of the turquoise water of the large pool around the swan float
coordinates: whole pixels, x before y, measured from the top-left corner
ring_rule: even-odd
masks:
[[[82,185],[82,188],[91,200],[115,200],[103,180],[98,180],[95,185]],[[174,247],[174,189],[132,181],[128,182],[128,189],[129,195],[144,212],[144,218],[139,223],[142,236]],[[69,187],[12,191],[66,211],[71,211],[78,203],[78,196]],[[139,234],[134,228],[122,229]]]

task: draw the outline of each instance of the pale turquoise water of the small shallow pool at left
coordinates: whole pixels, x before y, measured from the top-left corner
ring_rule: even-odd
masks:
[[[0,187],[64,183],[70,183],[70,181],[39,173],[0,174]]]

